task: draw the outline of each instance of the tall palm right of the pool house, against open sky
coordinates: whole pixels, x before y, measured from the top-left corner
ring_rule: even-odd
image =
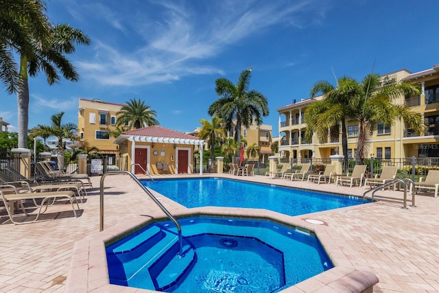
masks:
[[[262,117],[269,114],[267,98],[258,91],[248,90],[251,72],[252,67],[242,71],[236,86],[226,78],[215,80],[215,91],[221,97],[208,110],[209,115],[224,120],[226,130],[235,129],[235,139],[238,142],[241,141],[241,125],[249,128],[254,119],[259,126]]]

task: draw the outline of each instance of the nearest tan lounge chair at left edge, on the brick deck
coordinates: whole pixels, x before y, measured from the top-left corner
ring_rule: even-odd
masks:
[[[67,198],[69,200],[75,218],[77,218],[78,216],[76,215],[76,210],[75,210],[75,206],[73,205],[73,202],[76,202],[76,205],[78,206],[78,210],[80,209],[78,200],[76,200],[75,197],[75,193],[71,190],[55,191],[55,192],[19,193],[19,191],[15,189],[14,185],[2,185],[0,187],[0,196],[5,204],[6,212],[8,213],[9,219],[14,224],[27,224],[27,223],[36,222],[36,220],[38,220],[40,213],[44,213],[46,211],[47,207],[49,206],[49,201],[56,200],[57,198]],[[16,203],[19,204],[19,207],[21,207],[21,210],[25,215],[29,215],[29,213],[27,213],[25,207],[23,206],[23,200],[33,200],[34,204],[38,208],[38,212],[35,215],[35,219],[32,221],[16,222],[16,220],[14,220],[14,205]],[[36,204],[36,200],[41,200],[40,204]],[[44,211],[42,211],[43,207],[45,207]]]

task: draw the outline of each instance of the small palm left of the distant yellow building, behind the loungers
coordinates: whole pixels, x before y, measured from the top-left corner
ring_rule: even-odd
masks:
[[[62,124],[62,116],[64,112],[56,113],[50,117],[51,124],[49,126],[51,134],[58,139],[57,158],[58,168],[64,169],[64,150],[65,142],[62,139],[75,139],[78,137],[78,127],[74,123]]]

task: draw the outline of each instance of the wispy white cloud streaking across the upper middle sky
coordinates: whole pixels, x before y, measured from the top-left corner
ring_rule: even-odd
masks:
[[[115,34],[114,43],[128,49],[93,40],[95,54],[75,62],[84,78],[102,85],[141,86],[173,82],[187,75],[224,75],[208,58],[219,56],[245,38],[264,34],[273,25],[302,27],[312,23],[313,17],[324,18],[324,5],[315,0],[246,1],[239,5],[236,1],[159,1],[147,4],[148,9],[139,5],[145,11],[126,16],[124,25],[115,8],[93,5],[96,17],[122,32],[131,27],[137,39],[128,38],[128,33],[123,38]]]

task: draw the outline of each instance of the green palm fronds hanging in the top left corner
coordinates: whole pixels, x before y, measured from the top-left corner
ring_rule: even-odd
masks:
[[[8,93],[19,84],[18,65],[14,54],[36,51],[33,35],[45,36],[49,31],[45,3],[38,0],[0,0],[0,80]]]

